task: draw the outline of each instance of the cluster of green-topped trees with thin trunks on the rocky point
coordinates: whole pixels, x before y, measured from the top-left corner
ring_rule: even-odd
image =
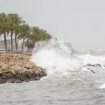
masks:
[[[10,50],[11,52],[18,51],[17,40],[22,41],[21,51],[23,51],[24,46],[30,49],[34,47],[37,41],[51,38],[51,35],[46,30],[29,26],[18,14],[6,13],[0,13],[0,35],[4,36],[5,51]],[[11,38],[10,49],[7,46],[7,36]],[[15,40],[15,49],[13,49],[13,39]]]

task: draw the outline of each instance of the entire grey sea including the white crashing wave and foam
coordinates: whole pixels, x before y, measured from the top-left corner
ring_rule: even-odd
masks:
[[[31,61],[47,76],[0,84],[0,105],[105,105],[103,52],[74,53],[69,43],[51,40],[37,44]]]

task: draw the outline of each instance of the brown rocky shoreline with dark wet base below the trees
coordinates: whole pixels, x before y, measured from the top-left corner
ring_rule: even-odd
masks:
[[[21,83],[46,76],[45,69],[36,66],[25,54],[0,54],[0,83]]]

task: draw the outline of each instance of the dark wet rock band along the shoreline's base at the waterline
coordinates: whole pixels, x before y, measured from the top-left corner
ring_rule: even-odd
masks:
[[[33,81],[33,80],[40,80],[41,77],[46,76],[45,72],[35,73],[25,71],[23,73],[4,73],[0,74],[0,83],[21,83],[23,81]]]

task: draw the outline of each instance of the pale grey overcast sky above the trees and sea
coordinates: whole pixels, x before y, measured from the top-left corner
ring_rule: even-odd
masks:
[[[0,0],[0,11],[20,14],[75,49],[105,50],[105,0]]]

